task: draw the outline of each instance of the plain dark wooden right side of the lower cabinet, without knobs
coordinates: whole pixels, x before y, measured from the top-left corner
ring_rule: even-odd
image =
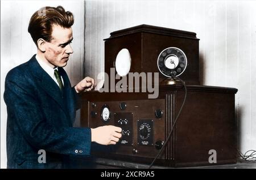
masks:
[[[184,93],[177,95],[177,110],[183,98]],[[207,165],[209,150],[214,149],[217,163],[236,162],[236,132],[234,95],[188,92],[176,125],[176,160],[179,164]]]

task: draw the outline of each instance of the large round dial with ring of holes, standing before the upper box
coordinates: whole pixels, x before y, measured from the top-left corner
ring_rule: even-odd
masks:
[[[169,78],[181,75],[186,67],[187,57],[179,48],[166,48],[158,56],[158,69]]]

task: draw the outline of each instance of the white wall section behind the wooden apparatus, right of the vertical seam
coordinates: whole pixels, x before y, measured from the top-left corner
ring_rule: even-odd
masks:
[[[256,149],[256,1],[85,1],[86,75],[104,71],[110,32],[139,24],[197,33],[201,84],[238,89],[240,150]]]

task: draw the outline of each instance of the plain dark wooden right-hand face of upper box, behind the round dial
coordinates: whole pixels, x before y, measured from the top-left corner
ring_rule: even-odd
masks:
[[[156,64],[158,55],[166,48],[176,47],[183,50],[188,59],[188,66],[180,78],[187,84],[199,85],[199,44],[196,38],[143,33],[142,40],[142,72],[159,72]],[[159,81],[166,79],[162,74],[159,78]]]

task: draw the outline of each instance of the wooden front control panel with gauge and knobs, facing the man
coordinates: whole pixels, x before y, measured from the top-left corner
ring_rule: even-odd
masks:
[[[104,96],[101,96],[101,98],[104,98]],[[130,136],[133,136],[133,144],[129,145],[118,145],[117,147],[113,147],[114,150],[112,152],[106,152],[108,155],[110,153],[115,155],[130,155],[130,156],[137,156],[137,157],[151,157],[153,158],[159,150],[155,149],[155,144],[148,144],[148,145],[139,145],[137,142],[137,121],[143,120],[143,119],[152,119],[154,126],[152,126],[152,132],[153,133],[153,142],[156,142],[157,140],[164,141],[164,124],[165,120],[164,118],[156,118],[155,117],[155,110],[156,109],[162,109],[163,114],[166,114],[165,111],[165,101],[164,100],[141,100],[141,101],[124,101],[126,103],[126,109],[121,110],[119,108],[119,103],[122,101],[90,101],[89,105],[89,113],[96,112],[96,117],[92,117],[92,115],[89,115],[89,124],[90,127],[95,128],[98,126],[105,126],[105,125],[115,125],[117,126],[115,122],[115,113],[116,114],[122,114],[122,113],[133,113],[131,119],[132,121],[132,129],[129,129],[131,131]],[[96,107],[92,108],[92,103],[96,105]],[[108,122],[103,122],[101,120],[101,108],[104,105],[108,105],[110,109],[110,120]],[[164,117],[164,116],[163,116]],[[120,125],[119,125],[120,126]],[[154,129],[153,129],[154,127]],[[124,128],[124,127],[123,127]],[[137,149],[138,153],[133,153],[133,148]],[[103,152],[100,152],[102,154]]]

